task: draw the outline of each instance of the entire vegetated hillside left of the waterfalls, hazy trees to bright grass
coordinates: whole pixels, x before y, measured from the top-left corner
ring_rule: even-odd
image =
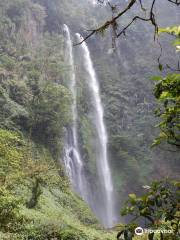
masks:
[[[45,18],[33,1],[0,0],[0,239],[114,239],[62,167],[72,96],[63,36]]]

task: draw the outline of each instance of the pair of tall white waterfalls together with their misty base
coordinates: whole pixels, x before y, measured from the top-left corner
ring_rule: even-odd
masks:
[[[92,102],[92,125],[97,133],[98,151],[96,151],[96,167],[99,182],[99,189],[96,193],[93,191],[91,182],[88,181],[84,162],[79,151],[78,143],[78,113],[77,113],[77,83],[75,71],[75,54],[67,25],[63,26],[65,37],[65,60],[70,66],[68,74],[68,86],[72,92],[72,120],[73,123],[67,128],[64,148],[64,164],[71,185],[78,194],[89,204],[96,216],[105,227],[112,227],[117,222],[117,216],[114,207],[113,183],[108,161],[107,142],[108,136],[104,123],[104,112],[100,97],[100,89],[95,69],[90,56],[90,51],[85,42],[77,47],[81,55],[83,68],[86,72],[87,87],[90,92],[90,101]],[[82,37],[76,34],[76,41],[80,42]],[[94,194],[98,196],[94,196]]]

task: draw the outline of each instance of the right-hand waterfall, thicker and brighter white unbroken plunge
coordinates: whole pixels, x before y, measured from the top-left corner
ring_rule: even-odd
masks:
[[[77,33],[76,34],[78,42],[83,38]],[[107,227],[112,227],[115,219],[114,216],[114,201],[113,201],[113,184],[111,178],[111,172],[108,162],[107,154],[107,132],[104,123],[104,113],[103,106],[100,98],[99,84],[96,76],[95,69],[91,60],[90,52],[88,46],[83,42],[80,46],[82,51],[82,58],[84,63],[84,68],[87,72],[88,87],[91,93],[93,114],[94,114],[94,126],[97,132],[97,138],[99,142],[98,154],[97,154],[97,168],[99,181],[101,183],[101,202],[99,203],[99,208],[104,204],[103,210],[99,213],[103,224]],[[98,209],[97,209],[98,211]]]

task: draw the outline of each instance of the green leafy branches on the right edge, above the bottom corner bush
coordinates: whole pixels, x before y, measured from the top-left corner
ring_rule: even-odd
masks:
[[[180,27],[171,27],[160,29],[159,32],[165,32],[175,37],[173,45],[178,52],[180,43]],[[159,65],[162,70],[162,65]],[[154,96],[159,101],[159,107],[155,111],[155,115],[162,121],[158,124],[160,129],[159,137],[154,140],[153,146],[157,145],[164,140],[173,146],[180,148],[180,74],[176,73],[179,69],[170,72],[165,77],[154,77],[158,81],[154,88]]]

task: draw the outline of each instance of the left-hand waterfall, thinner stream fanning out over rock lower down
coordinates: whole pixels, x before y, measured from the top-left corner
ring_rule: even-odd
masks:
[[[65,58],[69,65],[68,80],[69,88],[72,92],[72,126],[67,129],[66,146],[64,153],[64,163],[67,175],[76,192],[86,199],[86,184],[83,175],[83,162],[78,147],[77,135],[77,103],[76,103],[76,76],[73,59],[73,46],[70,31],[67,25],[63,26],[65,35]]]

